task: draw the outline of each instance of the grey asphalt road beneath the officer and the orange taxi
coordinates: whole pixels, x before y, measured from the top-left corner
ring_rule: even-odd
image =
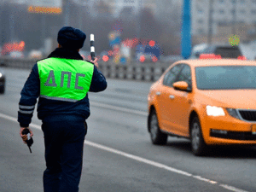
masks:
[[[27,70],[5,69],[0,95],[0,192],[43,191],[44,140],[36,112],[32,154],[16,121]],[[108,89],[89,93],[89,130],[84,143],[80,191],[256,191],[256,148],[212,148],[195,157],[188,140],[169,137],[154,146],[147,132],[151,83],[108,79]]]

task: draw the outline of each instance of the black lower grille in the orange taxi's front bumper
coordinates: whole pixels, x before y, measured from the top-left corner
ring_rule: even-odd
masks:
[[[243,140],[243,141],[253,141],[256,140],[256,135],[248,131],[227,131],[226,134],[220,134],[215,132],[210,132],[211,137],[225,138],[225,139],[234,139],[234,140]]]

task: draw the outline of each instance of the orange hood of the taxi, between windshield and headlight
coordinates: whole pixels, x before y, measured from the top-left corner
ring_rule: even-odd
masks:
[[[195,99],[224,108],[256,109],[256,90],[198,90]]]

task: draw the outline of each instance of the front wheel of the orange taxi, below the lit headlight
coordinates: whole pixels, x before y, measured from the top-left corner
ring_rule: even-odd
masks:
[[[197,117],[192,120],[191,123],[191,148],[193,154],[196,156],[201,156],[205,154],[207,149],[207,144],[204,141],[201,133],[200,121]]]

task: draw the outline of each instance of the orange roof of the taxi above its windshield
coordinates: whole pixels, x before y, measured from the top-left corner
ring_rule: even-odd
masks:
[[[191,67],[207,67],[207,66],[256,66],[256,61],[237,60],[237,59],[196,59],[196,60],[180,60],[175,62],[189,64]]]

